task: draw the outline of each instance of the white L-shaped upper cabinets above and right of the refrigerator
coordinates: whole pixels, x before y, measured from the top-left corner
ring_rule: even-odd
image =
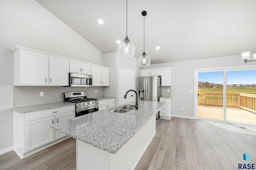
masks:
[[[171,86],[172,67],[140,70],[140,76],[161,76],[161,86]]]

